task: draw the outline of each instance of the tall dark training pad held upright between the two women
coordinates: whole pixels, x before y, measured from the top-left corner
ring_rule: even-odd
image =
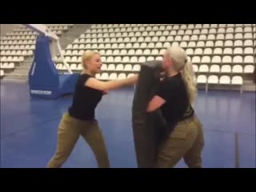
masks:
[[[138,84],[134,93],[132,120],[134,146],[138,167],[154,166],[154,158],[166,124],[160,110],[146,113],[150,99],[154,97],[160,83],[161,62],[142,63]]]

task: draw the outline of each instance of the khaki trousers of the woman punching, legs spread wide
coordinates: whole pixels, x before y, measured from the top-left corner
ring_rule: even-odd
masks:
[[[98,162],[98,167],[110,167],[102,130],[98,127],[98,123],[72,118],[68,113],[63,115],[62,121],[58,127],[57,150],[47,167],[54,168],[62,166],[70,156],[80,135],[82,135],[93,150]]]

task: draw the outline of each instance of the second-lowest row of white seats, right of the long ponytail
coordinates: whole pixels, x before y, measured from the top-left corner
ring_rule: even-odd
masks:
[[[246,65],[246,66],[241,66],[241,65],[234,65],[233,67],[230,65],[223,65],[223,66],[218,66],[218,65],[193,65],[194,72],[199,72],[199,73],[237,73],[237,74],[252,74],[254,73],[254,66],[253,65]]]

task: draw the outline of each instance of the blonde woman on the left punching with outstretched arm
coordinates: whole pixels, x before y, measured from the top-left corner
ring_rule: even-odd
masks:
[[[47,165],[49,168],[62,166],[80,135],[93,150],[98,167],[110,167],[102,130],[95,119],[94,111],[106,91],[133,85],[138,75],[121,80],[99,81],[94,77],[101,71],[102,60],[96,51],[86,51],[82,55],[82,66],[84,69],[76,83],[72,105],[63,115],[58,127],[57,150]]]

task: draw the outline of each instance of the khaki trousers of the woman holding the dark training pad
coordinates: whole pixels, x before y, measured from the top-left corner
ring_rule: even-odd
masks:
[[[174,167],[182,158],[190,168],[202,167],[204,136],[202,124],[193,117],[178,122],[174,131],[158,149],[156,168]]]

